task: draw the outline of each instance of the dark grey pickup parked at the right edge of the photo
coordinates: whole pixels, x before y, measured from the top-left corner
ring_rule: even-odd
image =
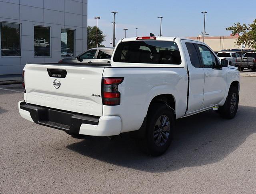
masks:
[[[236,58],[236,67],[240,68],[240,65],[241,65],[241,57]],[[243,71],[244,68],[252,69],[253,71],[256,71],[256,52],[246,52],[244,54],[244,56],[242,57],[241,71]]]

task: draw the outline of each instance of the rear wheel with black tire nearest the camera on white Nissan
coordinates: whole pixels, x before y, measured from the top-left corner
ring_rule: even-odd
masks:
[[[174,126],[172,109],[161,103],[150,105],[146,122],[146,136],[143,140],[146,152],[153,156],[159,156],[166,152],[172,142]]]

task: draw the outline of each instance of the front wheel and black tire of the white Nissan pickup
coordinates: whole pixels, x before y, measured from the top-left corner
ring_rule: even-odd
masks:
[[[238,89],[235,86],[230,86],[225,104],[218,108],[218,113],[220,113],[220,115],[223,118],[232,119],[234,118],[234,116],[236,116],[238,104],[239,104]]]

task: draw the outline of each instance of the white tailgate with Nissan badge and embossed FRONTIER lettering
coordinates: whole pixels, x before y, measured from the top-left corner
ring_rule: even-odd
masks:
[[[103,71],[103,66],[26,64],[26,102],[102,116]]]

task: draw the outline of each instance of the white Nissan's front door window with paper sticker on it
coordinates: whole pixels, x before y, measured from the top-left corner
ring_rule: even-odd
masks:
[[[204,68],[216,68],[217,60],[210,49],[203,45],[198,45],[198,48]]]

